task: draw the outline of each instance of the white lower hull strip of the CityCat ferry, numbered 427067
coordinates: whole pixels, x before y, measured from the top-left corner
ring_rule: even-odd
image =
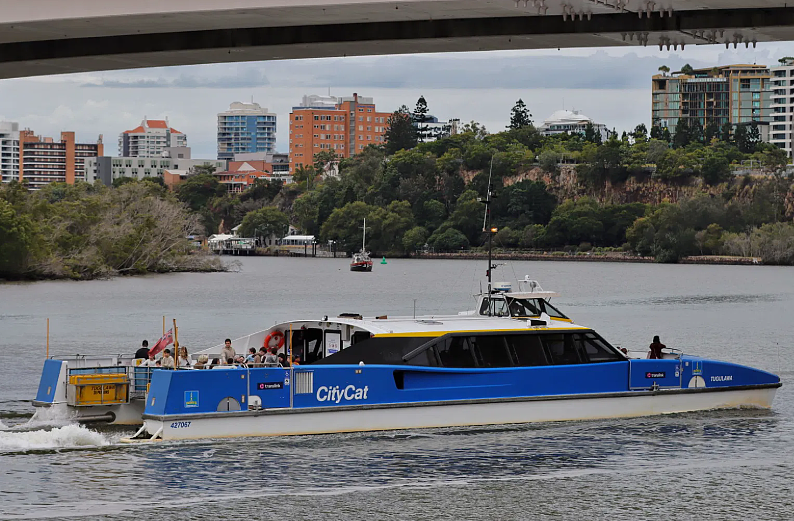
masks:
[[[482,401],[445,405],[283,409],[145,419],[150,435],[165,440],[239,436],[288,436],[432,427],[595,420],[737,407],[770,408],[776,387],[735,391],[656,392],[629,396]]]

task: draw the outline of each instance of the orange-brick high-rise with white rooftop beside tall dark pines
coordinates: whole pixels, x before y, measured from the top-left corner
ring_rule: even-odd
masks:
[[[289,117],[290,171],[314,162],[314,155],[330,150],[351,157],[367,145],[385,142],[389,112],[378,112],[372,98],[353,94],[304,96]]]

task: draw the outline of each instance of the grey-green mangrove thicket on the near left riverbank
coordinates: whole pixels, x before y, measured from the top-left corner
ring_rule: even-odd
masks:
[[[117,274],[225,269],[192,254],[196,215],[157,182],[53,183],[0,188],[0,278],[94,279]]]

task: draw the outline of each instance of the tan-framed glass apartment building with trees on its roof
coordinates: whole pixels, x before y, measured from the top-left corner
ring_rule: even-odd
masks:
[[[688,124],[772,121],[772,73],[765,65],[723,65],[653,77],[651,124],[675,133]]]

